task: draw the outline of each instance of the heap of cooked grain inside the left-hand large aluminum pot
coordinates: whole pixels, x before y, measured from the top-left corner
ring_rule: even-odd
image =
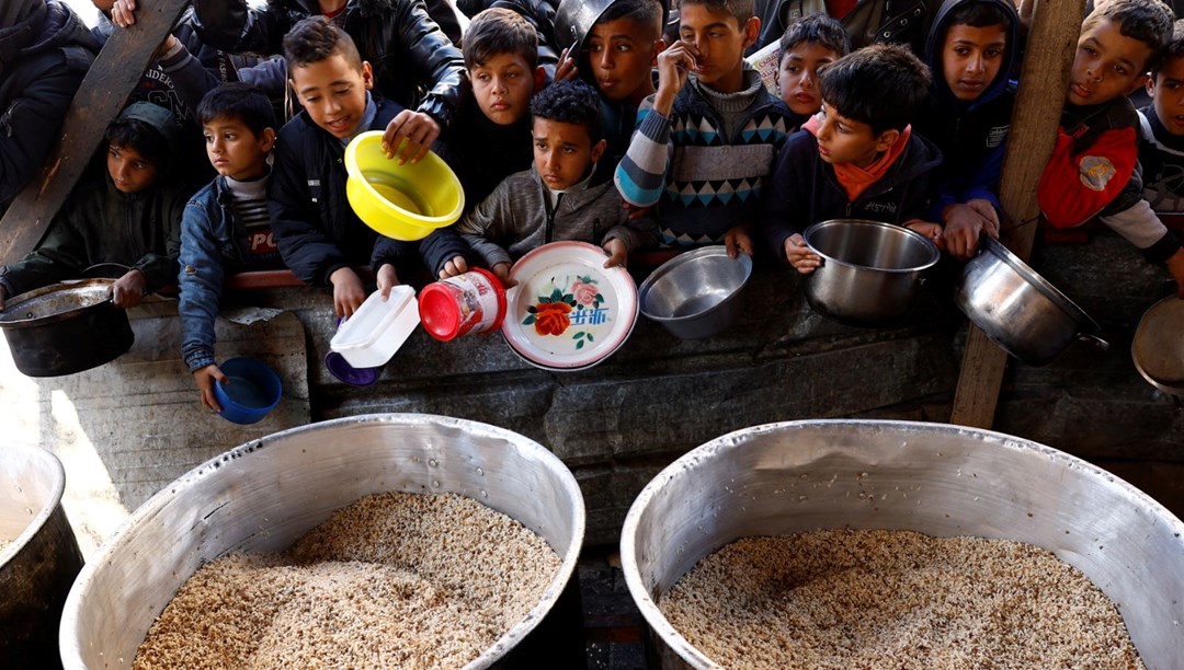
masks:
[[[475,500],[372,495],[282,554],[202,566],[133,668],[461,668],[539,603],[560,562]]]

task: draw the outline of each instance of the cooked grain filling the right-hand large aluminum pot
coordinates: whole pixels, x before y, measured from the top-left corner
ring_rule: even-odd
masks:
[[[909,531],[745,538],[658,601],[725,668],[1144,668],[1114,604],[1051,552]]]

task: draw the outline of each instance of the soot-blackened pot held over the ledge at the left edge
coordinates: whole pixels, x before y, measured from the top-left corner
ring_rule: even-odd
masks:
[[[128,313],[111,301],[111,279],[53,284],[21,293],[0,311],[17,369],[57,377],[109,363],[131,349]]]

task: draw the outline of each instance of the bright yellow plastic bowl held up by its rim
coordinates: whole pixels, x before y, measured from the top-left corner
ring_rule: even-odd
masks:
[[[372,130],[346,147],[346,197],[354,214],[381,235],[422,240],[450,226],[464,209],[464,190],[452,169],[429,151],[418,163],[399,164],[382,152],[382,131]]]

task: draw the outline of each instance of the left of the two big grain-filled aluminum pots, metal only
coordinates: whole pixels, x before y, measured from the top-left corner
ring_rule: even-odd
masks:
[[[130,668],[153,620],[204,562],[229,552],[285,549],[334,510],[391,490],[472,497],[539,533],[562,559],[534,609],[468,669],[495,662],[583,666],[579,593],[571,580],[585,522],[575,477],[551,451],[515,432],[395,414],[269,435],[202,463],[150,497],[70,591],[60,631],[65,668]],[[543,650],[547,661],[523,659]]]

